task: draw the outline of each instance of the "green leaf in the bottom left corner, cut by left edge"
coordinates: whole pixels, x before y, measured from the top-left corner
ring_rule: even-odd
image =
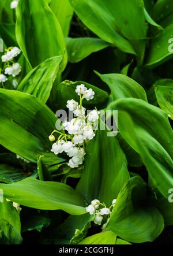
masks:
[[[20,244],[21,224],[17,210],[11,202],[0,203],[0,243]]]

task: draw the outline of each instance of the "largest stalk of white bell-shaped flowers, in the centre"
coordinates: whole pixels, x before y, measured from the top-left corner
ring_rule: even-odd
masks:
[[[59,134],[57,142],[52,144],[51,151],[56,155],[65,152],[72,157],[68,162],[71,168],[77,168],[84,161],[85,144],[94,138],[93,125],[99,119],[99,112],[96,109],[86,116],[86,109],[82,106],[82,101],[93,99],[95,92],[91,88],[87,89],[84,84],[80,84],[76,87],[76,93],[80,97],[80,103],[70,99],[66,105],[76,116],[71,121],[63,122],[62,125],[67,134],[54,130],[49,136],[50,141],[54,141],[53,134],[55,132]]]

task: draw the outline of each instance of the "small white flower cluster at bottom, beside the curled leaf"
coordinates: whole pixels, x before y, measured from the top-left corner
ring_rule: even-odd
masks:
[[[109,216],[111,214],[111,208],[115,206],[116,199],[112,201],[112,205],[108,208],[105,204],[100,203],[98,199],[91,201],[91,205],[87,206],[86,212],[91,215],[94,215],[93,222],[97,225],[101,225],[103,216]]]

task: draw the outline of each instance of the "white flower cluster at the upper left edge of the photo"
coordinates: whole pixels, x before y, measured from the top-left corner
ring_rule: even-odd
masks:
[[[6,49],[6,53],[1,57],[4,67],[3,69],[0,69],[0,83],[5,83],[7,81],[6,75],[16,77],[21,72],[21,65],[13,61],[13,59],[20,53],[21,50],[18,47],[10,47],[9,49]],[[4,74],[1,72],[4,72]]]

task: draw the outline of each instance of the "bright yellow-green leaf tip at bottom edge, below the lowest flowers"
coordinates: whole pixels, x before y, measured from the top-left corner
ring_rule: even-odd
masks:
[[[78,244],[115,244],[115,241],[115,233],[112,231],[106,231],[88,236],[88,238],[85,238]]]

